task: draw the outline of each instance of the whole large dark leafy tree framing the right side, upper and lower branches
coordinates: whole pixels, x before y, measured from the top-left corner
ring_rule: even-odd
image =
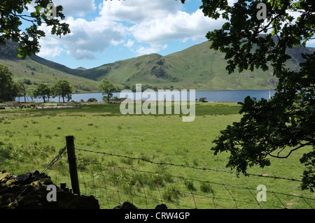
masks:
[[[185,0],[181,0],[182,3]],[[214,50],[225,53],[229,73],[272,69],[279,85],[271,100],[246,97],[243,117],[221,131],[211,150],[230,152],[227,166],[246,173],[247,168],[271,164],[270,157],[285,159],[309,146],[300,159],[305,165],[302,189],[315,189],[315,52],[302,55],[300,69],[286,67],[289,48],[314,39],[315,1],[203,0],[204,15],[227,20],[221,29],[209,31]],[[260,13],[265,6],[265,18]],[[295,19],[293,13],[299,14]]]

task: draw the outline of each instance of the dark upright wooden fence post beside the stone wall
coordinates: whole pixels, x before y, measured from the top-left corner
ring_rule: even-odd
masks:
[[[73,191],[73,194],[80,195],[78,171],[76,169],[76,152],[74,151],[73,136],[66,136],[66,150],[68,152],[69,171],[70,171],[72,191]]]

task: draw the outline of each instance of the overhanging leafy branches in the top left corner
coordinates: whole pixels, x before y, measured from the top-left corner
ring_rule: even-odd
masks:
[[[31,3],[35,4],[34,11],[27,15]],[[6,44],[6,40],[19,43],[19,57],[25,59],[27,56],[39,52],[38,40],[45,36],[44,31],[38,29],[45,23],[51,27],[51,34],[62,36],[70,33],[69,24],[60,22],[64,20],[62,6],[54,6],[51,0],[17,0],[1,1],[0,3],[0,43]],[[22,22],[30,26],[22,31]]]

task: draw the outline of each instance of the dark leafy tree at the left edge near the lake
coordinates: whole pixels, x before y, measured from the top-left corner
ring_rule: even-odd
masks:
[[[14,101],[16,93],[13,73],[8,69],[8,66],[0,64],[0,101]]]

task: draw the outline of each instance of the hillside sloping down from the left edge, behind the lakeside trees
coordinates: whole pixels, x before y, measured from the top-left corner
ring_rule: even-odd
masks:
[[[12,41],[0,45],[0,64],[8,66],[14,73],[15,80],[27,80],[29,88],[41,83],[53,85],[57,80],[65,79],[74,87],[76,93],[97,92],[96,81],[78,76],[82,69],[70,69],[36,55],[19,59],[17,48],[18,44]]]

